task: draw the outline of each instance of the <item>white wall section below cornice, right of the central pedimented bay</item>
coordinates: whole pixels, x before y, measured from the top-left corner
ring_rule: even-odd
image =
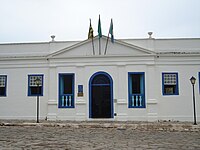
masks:
[[[190,78],[195,76],[196,109],[200,114],[199,77],[200,65],[165,65],[158,66],[157,73],[162,78],[162,72],[177,72],[179,77],[179,95],[163,96],[162,88],[159,89],[159,119],[161,120],[193,120],[192,85]],[[160,87],[161,87],[160,83]]]

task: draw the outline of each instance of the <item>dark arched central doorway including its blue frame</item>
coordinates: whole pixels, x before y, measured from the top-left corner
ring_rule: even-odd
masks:
[[[97,72],[89,82],[90,118],[113,118],[113,81],[106,72]]]

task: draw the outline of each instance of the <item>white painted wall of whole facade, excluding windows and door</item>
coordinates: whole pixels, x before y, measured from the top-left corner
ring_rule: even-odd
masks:
[[[158,41],[160,45],[146,43],[148,46],[143,46],[143,48],[148,47],[150,51],[155,47],[170,51],[175,48],[187,51],[191,48],[193,52],[200,52],[196,40],[191,40],[191,43],[189,41],[186,40],[187,44],[181,44],[180,40],[178,42],[177,40],[162,40],[163,43]],[[182,42],[185,41],[182,40]],[[144,41],[138,43],[143,44]],[[168,43],[173,43],[175,46]],[[29,45],[28,50],[34,51],[30,53],[30,56],[35,52],[42,55],[40,52],[43,47],[46,47],[45,52],[47,53],[65,47],[64,43],[56,46],[56,42],[52,42],[50,47],[47,45],[49,46],[49,44],[40,45],[39,49]],[[36,118],[36,97],[27,96],[28,74],[44,74],[44,96],[40,97],[41,119],[47,117],[48,120],[93,120],[89,118],[89,80],[94,73],[104,71],[113,79],[113,106],[117,116],[110,120],[192,121],[192,87],[189,81],[191,76],[197,79],[195,84],[196,110],[198,120],[200,120],[200,79],[198,77],[200,55],[197,53],[195,55],[159,54],[157,57],[157,54],[150,54],[148,50],[142,50],[134,45],[131,49],[129,45],[118,42],[109,46],[108,55],[93,56],[91,43],[86,41],[83,45],[79,44],[70,50],[66,48],[65,51],[64,48],[51,57],[49,55],[26,57],[28,53],[26,48],[26,44],[11,45],[11,48],[10,45],[8,48],[6,45],[0,45],[0,54],[2,54],[0,55],[0,74],[7,75],[7,96],[0,97],[0,119]],[[5,57],[5,53],[12,57]],[[13,57],[15,53],[25,56]],[[128,72],[145,72],[146,108],[128,108]],[[162,72],[178,72],[179,95],[162,95]],[[75,108],[58,108],[59,73],[75,74]],[[83,97],[77,96],[78,85],[83,85]]]

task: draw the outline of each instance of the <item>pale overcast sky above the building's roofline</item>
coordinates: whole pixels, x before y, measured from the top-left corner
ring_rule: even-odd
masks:
[[[113,18],[115,38],[200,38],[200,0],[0,0],[0,43],[85,40]]]

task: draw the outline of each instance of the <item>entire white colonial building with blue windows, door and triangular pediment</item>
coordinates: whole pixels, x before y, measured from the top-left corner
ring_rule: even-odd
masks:
[[[0,44],[0,119],[200,120],[200,39],[106,41]]]

